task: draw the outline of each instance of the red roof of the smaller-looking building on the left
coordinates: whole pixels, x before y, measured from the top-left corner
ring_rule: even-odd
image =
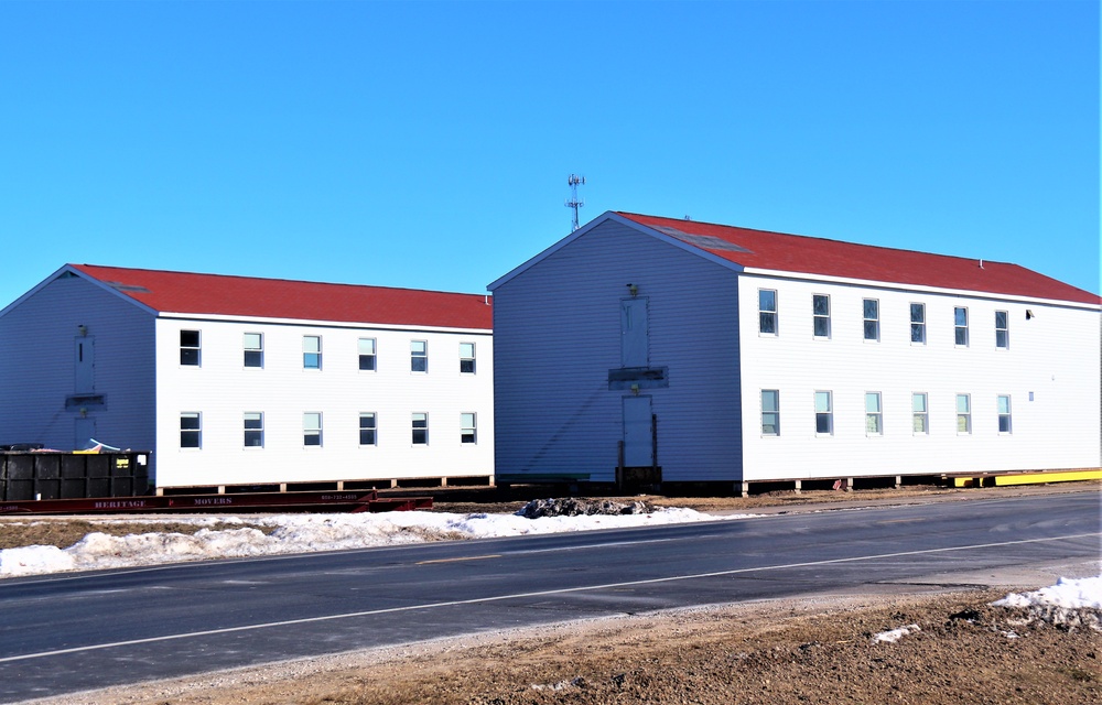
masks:
[[[493,328],[493,297],[480,294],[93,264],[71,267],[158,312]]]

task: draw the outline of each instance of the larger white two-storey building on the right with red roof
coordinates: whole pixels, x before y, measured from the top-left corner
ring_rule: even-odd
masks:
[[[1014,264],[606,213],[489,289],[499,482],[1100,466],[1100,299]]]

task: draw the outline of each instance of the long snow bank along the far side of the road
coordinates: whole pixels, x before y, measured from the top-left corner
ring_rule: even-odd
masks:
[[[227,517],[172,517],[174,523],[202,527],[194,534],[141,533],[111,536],[89,533],[68,549],[25,546],[0,551],[0,577],[72,570],[117,568],[203,558],[313,553],[341,549],[423,543],[454,539],[489,539],[595,529],[623,529],[694,521],[741,519],[753,514],[712,517],[691,509],[661,509],[644,514],[542,517],[454,514],[397,511],[379,514],[279,514],[248,520],[233,529],[213,524],[241,523]],[[97,519],[98,524],[144,523],[164,518]]]

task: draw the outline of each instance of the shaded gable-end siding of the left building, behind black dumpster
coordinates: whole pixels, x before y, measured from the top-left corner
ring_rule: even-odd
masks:
[[[153,449],[153,316],[78,278],[56,279],[0,317],[0,443],[74,449],[77,326],[95,346],[98,441]],[[153,458],[155,463],[155,457]]]

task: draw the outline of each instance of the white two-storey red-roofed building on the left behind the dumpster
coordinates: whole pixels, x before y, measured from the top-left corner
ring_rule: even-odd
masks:
[[[159,490],[493,481],[490,300],[68,264],[0,311],[0,443]]]

